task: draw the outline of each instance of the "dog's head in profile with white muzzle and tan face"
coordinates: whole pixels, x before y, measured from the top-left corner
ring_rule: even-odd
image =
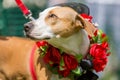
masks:
[[[68,37],[85,24],[82,17],[69,7],[50,7],[39,14],[39,18],[25,24],[26,35],[35,39]]]

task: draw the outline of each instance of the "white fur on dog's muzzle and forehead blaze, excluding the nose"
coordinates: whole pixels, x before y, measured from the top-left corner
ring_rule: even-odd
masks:
[[[52,38],[55,36],[51,27],[48,26],[45,22],[45,17],[48,15],[49,11],[54,8],[57,7],[45,9],[39,14],[39,18],[33,21],[34,27],[29,34],[30,36],[36,39]]]

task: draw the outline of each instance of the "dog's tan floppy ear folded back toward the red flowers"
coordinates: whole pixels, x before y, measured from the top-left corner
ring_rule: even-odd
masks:
[[[85,20],[82,16],[77,15],[76,16],[76,26],[81,27],[82,29],[85,29],[88,35],[93,35],[96,31],[96,27],[89,21]]]

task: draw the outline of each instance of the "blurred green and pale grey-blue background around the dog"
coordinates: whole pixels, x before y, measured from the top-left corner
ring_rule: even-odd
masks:
[[[37,18],[39,12],[64,2],[88,5],[93,22],[110,38],[112,55],[100,80],[120,80],[120,0],[22,0]],[[28,22],[14,0],[0,0],[0,35],[24,37],[23,24]]]

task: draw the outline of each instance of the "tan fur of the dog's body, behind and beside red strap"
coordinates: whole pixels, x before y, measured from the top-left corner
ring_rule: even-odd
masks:
[[[29,57],[34,45],[35,42],[30,39],[0,37],[1,80],[32,80],[29,71]],[[34,56],[38,80],[49,80],[50,74],[39,54],[36,52]],[[41,75],[39,76],[39,74]]]

